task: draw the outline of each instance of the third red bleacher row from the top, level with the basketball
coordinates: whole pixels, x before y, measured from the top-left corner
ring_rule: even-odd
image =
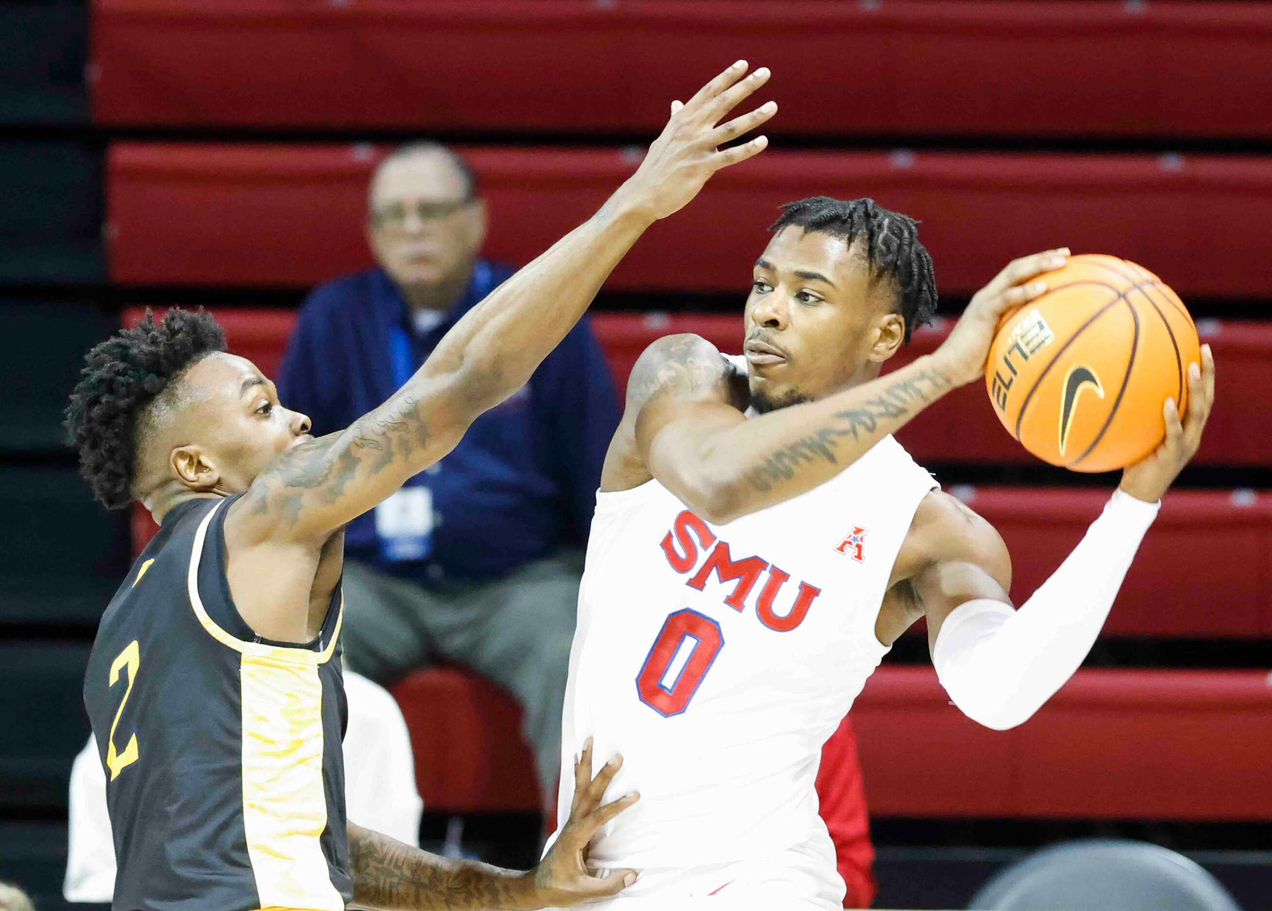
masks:
[[[125,311],[125,325],[134,325],[141,310]],[[275,310],[215,309],[225,327],[230,351],[251,358],[272,376],[282,358],[295,315]],[[726,314],[617,314],[593,316],[593,328],[614,371],[618,390],[627,388],[627,375],[640,353],[663,335],[691,332],[715,343],[724,352],[742,348],[742,319]],[[948,324],[917,332],[911,344],[894,358],[894,366],[927,354],[945,339]],[[1202,341],[1215,351],[1217,362],[1216,405],[1201,452],[1199,464],[1272,465],[1272,431],[1267,403],[1272,402],[1272,323],[1201,323]],[[1021,449],[995,417],[979,384],[945,396],[898,438],[922,462],[1010,462],[1030,464],[1034,457]]]

